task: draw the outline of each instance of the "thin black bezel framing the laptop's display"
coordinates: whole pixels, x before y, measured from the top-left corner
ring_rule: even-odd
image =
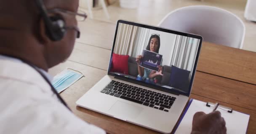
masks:
[[[148,28],[148,29],[152,29],[152,30],[163,31],[163,32],[167,32],[167,33],[173,33],[173,34],[177,34],[177,35],[181,35],[181,36],[187,36],[187,37],[192,37],[192,38],[195,38],[195,39],[200,39],[200,43],[199,43],[199,46],[197,48],[197,55],[196,55],[196,58],[195,58],[195,64],[194,64],[192,75],[191,75],[191,80],[190,80],[190,84],[189,84],[188,93],[184,93],[184,92],[181,92],[179,90],[170,90],[169,88],[164,88],[164,87],[161,87],[161,86],[158,86],[158,85],[149,84],[149,83],[139,81],[139,80],[134,80],[132,78],[126,78],[124,76],[115,75],[115,74],[110,72],[110,69],[111,69],[110,67],[111,67],[113,52],[114,52],[114,48],[115,48],[115,41],[116,41],[116,37],[117,37],[117,31],[118,31],[119,23],[124,23],[124,24],[132,25],[132,26],[138,26],[138,27],[142,27],[142,28]],[[111,76],[123,78],[124,80],[126,80],[128,82],[135,83],[135,84],[142,85],[142,86],[146,86],[148,88],[161,90],[161,91],[166,92],[166,93],[186,95],[186,96],[189,97],[189,95],[191,93],[192,85],[193,85],[193,82],[194,82],[194,78],[195,78],[195,72],[196,72],[196,68],[197,68],[200,49],[201,49],[201,46],[202,46],[202,41],[203,41],[203,37],[199,36],[199,35],[195,35],[195,34],[191,34],[191,33],[184,33],[184,32],[180,32],[180,31],[173,31],[173,30],[167,29],[167,28],[161,28],[161,27],[157,27],[157,26],[150,26],[150,25],[135,23],[135,22],[131,22],[131,21],[118,20],[116,30],[115,30],[115,37],[114,37],[113,46],[112,46],[112,50],[111,50],[111,56],[110,56],[110,60],[109,60],[109,67],[108,67],[107,74],[111,75]]]

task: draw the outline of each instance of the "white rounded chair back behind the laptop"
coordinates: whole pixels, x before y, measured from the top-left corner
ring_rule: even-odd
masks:
[[[168,13],[158,26],[203,36],[204,41],[234,48],[243,47],[245,25],[227,10],[211,6],[188,6]]]

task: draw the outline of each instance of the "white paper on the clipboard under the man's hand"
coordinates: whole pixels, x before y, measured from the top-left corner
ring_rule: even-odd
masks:
[[[185,115],[183,119],[181,119],[181,122],[175,131],[175,134],[191,133],[192,120],[196,112],[203,111],[205,113],[211,113],[213,111],[212,107],[206,106],[206,103],[202,101],[191,99],[189,101],[189,104],[187,106],[187,112],[184,112]],[[227,134],[246,134],[250,115],[237,111],[232,111],[232,113],[228,113],[226,111],[227,109],[221,108],[220,106],[217,108],[217,110],[221,112],[221,116],[226,121]]]

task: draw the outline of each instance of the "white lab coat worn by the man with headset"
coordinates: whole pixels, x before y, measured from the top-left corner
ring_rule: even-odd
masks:
[[[70,112],[23,62],[0,59],[0,134],[105,134]]]

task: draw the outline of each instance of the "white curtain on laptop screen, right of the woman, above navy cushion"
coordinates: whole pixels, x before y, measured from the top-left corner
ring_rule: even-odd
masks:
[[[192,72],[198,46],[199,39],[176,35],[171,51],[170,66],[173,65]]]

